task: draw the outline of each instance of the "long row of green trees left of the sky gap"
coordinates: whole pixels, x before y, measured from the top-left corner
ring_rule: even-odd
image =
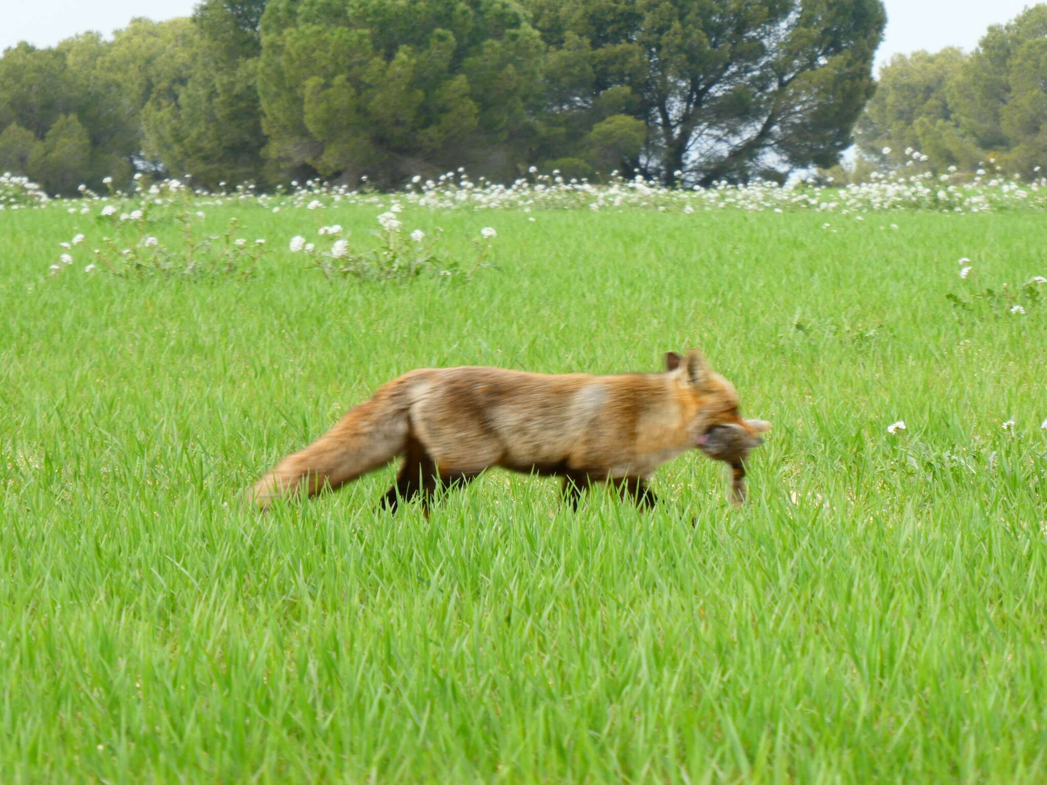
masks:
[[[884,23],[881,0],[204,0],[6,50],[0,172],[783,179],[851,143]]]

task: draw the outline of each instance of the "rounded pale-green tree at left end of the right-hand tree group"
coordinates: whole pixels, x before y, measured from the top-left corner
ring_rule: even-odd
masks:
[[[965,63],[955,47],[895,54],[855,128],[862,153],[887,166],[904,163],[908,150],[928,156],[932,172],[976,169],[982,153],[960,130],[954,98]]]

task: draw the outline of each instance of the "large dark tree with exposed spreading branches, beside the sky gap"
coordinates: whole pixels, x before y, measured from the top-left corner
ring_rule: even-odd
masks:
[[[570,150],[608,102],[647,128],[627,170],[706,185],[834,163],[885,24],[881,0],[524,3],[552,48],[544,152]]]

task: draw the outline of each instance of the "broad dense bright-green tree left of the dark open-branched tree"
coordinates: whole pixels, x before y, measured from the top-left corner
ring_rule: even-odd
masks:
[[[511,175],[541,49],[511,0],[271,0],[258,77],[266,154],[380,185],[458,165]]]

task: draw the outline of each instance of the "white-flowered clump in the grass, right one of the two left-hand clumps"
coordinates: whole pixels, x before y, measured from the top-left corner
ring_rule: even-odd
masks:
[[[304,253],[313,266],[329,281],[336,277],[355,277],[364,281],[388,281],[393,278],[415,278],[420,275],[471,278],[482,267],[491,266],[487,262],[491,240],[497,232],[491,227],[481,229],[481,240],[471,241],[476,255],[465,264],[456,259],[438,255],[442,229],[427,239],[424,231],[415,229],[405,234],[398,214],[399,205],[378,216],[380,230],[372,230],[376,243],[366,247],[353,248],[348,236],[341,237],[339,225],[320,227],[318,234],[335,238],[330,249],[320,250],[315,243],[308,243],[302,236],[291,238],[289,249],[292,253]]]

